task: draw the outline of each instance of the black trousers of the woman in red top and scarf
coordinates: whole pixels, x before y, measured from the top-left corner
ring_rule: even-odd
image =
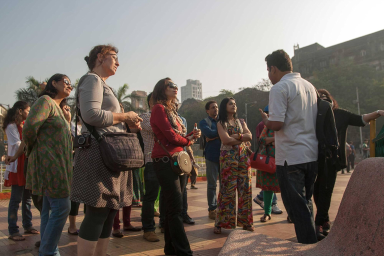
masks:
[[[192,255],[181,218],[182,194],[186,175],[177,175],[170,166],[170,161],[153,162],[165,204],[164,253]]]

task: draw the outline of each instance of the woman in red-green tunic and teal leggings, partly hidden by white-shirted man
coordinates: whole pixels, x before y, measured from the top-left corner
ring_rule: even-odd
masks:
[[[264,127],[260,135],[261,144],[265,145],[261,150],[261,154],[274,157],[274,131]],[[266,222],[272,212],[273,193],[279,193],[280,187],[277,182],[276,173],[269,173],[261,170],[256,170],[256,187],[264,191],[264,215],[260,218],[261,222]]]

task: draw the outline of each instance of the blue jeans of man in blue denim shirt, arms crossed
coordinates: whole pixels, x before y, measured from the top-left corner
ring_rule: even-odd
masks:
[[[219,183],[221,183],[220,178],[220,163],[212,162],[205,158],[206,166],[206,198],[208,199],[208,210],[214,210],[217,208],[217,196],[216,196],[216,187],[217,187],[217,177]]]

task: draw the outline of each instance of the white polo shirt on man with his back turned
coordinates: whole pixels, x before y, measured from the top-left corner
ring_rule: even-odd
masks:
[[[285,74],[269,92],[269,120],[284,122],[274,132],[277,165],[317,160],[317,94],[300,73]]]

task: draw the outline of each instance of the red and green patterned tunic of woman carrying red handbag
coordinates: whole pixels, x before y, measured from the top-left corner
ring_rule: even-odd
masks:
[[[265,145],[266,137],[274,137],[274,131],[268,129],[267,127],[264,127],[260,135],[262,145]],[[260,154],[266,155],[266,147],[268,149],[268,155],[274,157],[276,151],[274,145],[272,145],[271,143],[265,145],[262,148]],[[266,171],[256,170],[256,187],[259,187],[261,188],[261,190],[265,191],[273,191],[275,193],[280,192],[280,186],[277,182],[276,173],[269,173]]]

